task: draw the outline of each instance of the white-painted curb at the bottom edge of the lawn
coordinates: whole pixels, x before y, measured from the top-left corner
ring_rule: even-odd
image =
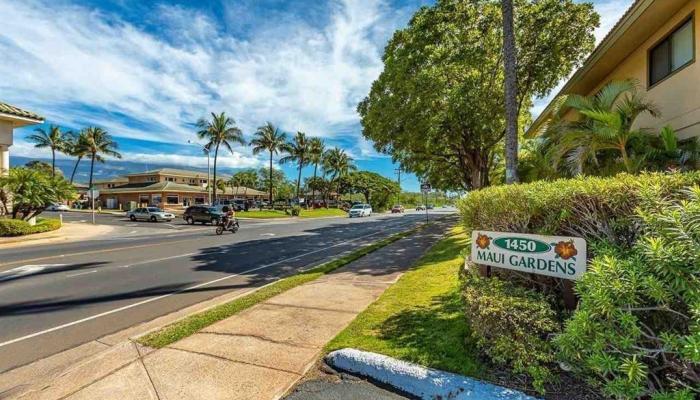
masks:
[[[388,384],[421,399],[537,400],[517,390],[367,351],[336,350],[325,361],[333,368]]]

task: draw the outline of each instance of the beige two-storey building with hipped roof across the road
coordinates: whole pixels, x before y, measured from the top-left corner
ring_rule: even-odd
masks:
[[[220,176],[224,181],[227,176]],[[217,176],[219,179],[219,176]],[[109,209],[130,209],[138,205],[154,205],[179,209],[193,204],[210,203],[207,173],[174,168],[128,174],[123,177],[97,180],[99,205]],[[219,200],[261,200],[266,193],[246,187],[227,186]]]

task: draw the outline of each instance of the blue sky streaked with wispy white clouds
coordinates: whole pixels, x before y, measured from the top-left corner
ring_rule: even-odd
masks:
[[[188,141],[197,141],[198,119],[225,111],[247,139],[270,121],[290,135],[322,137],[359,168],[395,179],[391,158],[362,137],[356,106],[382,71],[392,33],[432,2],[0,0],[0,101],[66,130],[101,126],[124,159],[146,165],[206,168],[201,147]],[[594,1],[598,40],[631,2]],[[538,99],[533,114],[548,101]],[[33,129],[16,131],[11,154],[50,157],[26,141]],[[236,146],[218,163],[266,160]],[[404,189],[418,190],[415,176],[402,177]]]

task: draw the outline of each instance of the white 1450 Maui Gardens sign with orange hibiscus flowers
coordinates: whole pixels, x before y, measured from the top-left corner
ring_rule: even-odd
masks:
[[[586,241],[577,237],[472,231],[476,264],[577,280],[586,272]]]

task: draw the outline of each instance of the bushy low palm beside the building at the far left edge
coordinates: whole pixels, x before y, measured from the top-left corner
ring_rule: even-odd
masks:
[[[41,214],[47,204],[70,200],[75,188],[62,176],[51,176],[36,168],[10,168],[7,176],[0,177],[0,198],[3,209],[9,211],[12,202],[12,218],[29,220]]]

